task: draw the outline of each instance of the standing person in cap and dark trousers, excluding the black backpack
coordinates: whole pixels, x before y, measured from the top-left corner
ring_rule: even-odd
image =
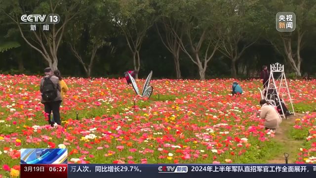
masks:
[[[52,70],[48,67],[44,69],[45,76],[40,80],[40,92],[42,93],[42,88],[44,84],[45,78],[50,77],[50,80],[54,84],[55,89],[57,89],[57,97],[53,101],[45,101],[43,98],[41,99],[41,103],[44,104],[45,114],[48,116],[48,123],[51,127],[54,127],[54,124],[61,125],[60,121],[60,103],[62,101],[61,97],[61,87],[59,84],[59,79],[56,76],[53,76]],[[51,112],[53,112],[54,118],[51,118]]]

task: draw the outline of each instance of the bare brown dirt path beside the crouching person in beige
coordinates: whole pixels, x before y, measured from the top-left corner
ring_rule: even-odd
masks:
[[[303,141],[295,140],[290,137],[290,130],[293,127],[295,119],[302,118],[304,114],[296,114],[296,116],[289,116],[286,119],[282,120],[280,127],[276,130],[275,140],[280,142],[283,146],[279,152],[278,157],[273,160],[269,160],[270,164],[284,164],[285,158],[284,153],[288,153],[288,164],[295,163],[296,155],[299,152],[299,148],[302,146]]]

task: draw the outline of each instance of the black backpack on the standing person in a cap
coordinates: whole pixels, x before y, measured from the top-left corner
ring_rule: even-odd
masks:
[[[56,99],[57,89],[54,83],[50,80],[51,76],[44,78],[43,86],[41,87],[41,97],[44,101],[50,102]]]

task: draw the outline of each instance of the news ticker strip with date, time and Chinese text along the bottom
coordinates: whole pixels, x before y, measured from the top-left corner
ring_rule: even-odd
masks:
[[[280,178],[316,176],[313,164],[21,164],[21,178]]]

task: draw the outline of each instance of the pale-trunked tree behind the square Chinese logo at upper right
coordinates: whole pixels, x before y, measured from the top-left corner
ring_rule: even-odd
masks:
[[[275,47],[295,74],[301,74],[301,51],[305,47],[304,38],[307,34],[314,32],[316,27],[316,1],[315,0],[275,0],[265,4],[266,11],[274,14],[270,18],[269,41]],[[277,32],[275,27],[275,14],[282,11],[294,12],[296,15],[296,29],[293,32]]]

